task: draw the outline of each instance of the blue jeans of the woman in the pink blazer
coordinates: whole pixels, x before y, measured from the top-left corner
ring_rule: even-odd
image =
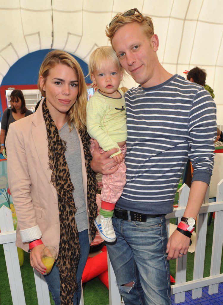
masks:
[[[84,271],[84,267],[88,258],[90,244],[88,238],[88,230],[84,230],[79,232],[79,243],[81,248],[80,260],[77,269],[77,283],[78,289],[74,293],[73,303],[74,305],[78,305],[81,300],[81,279],[82,273]],[[55,305],[60,305],[60,274],[59,269],[56,264],[54,264],[51,273],[44,275],[44,278],[49,287],[49,291],[52,293],[52,297],[54,299]]]

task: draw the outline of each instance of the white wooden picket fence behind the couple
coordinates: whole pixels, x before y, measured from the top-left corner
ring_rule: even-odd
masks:
[[[179,207],[174,208],[173,212],[166,215],[167,226],[170,218],[180,218],[183,216],[190,189],[183,185],[179,189]],[[198,190],[199,191],[199,190]],[[210,276],[203,278],[204,274],[204,253],[207,233],[207,213],[216,212],[214,219],[214,235],[211,254]],[[16,231],[13,228],[11,210],[5,206],[0,209],[0,244],[3,244],[9,284],[12,295],[13,305],[25,305],[23,283],[19,267],[17,248],[15,246]],[[192,290],[192,298],[201,297],[202,287],[209,285],[209,294],[218,292],[218,283],[223,282],[223,274],[220,274],[221,253],[223,243],[223,180],[217,186],[216,202],[209,203],[209,189],[205,196],[197,217],[196,246],[194,257],[193,280],[186,282],[186,260],[187,255],[176,260],[176,284],[172,285],[172,294],[175,294],[175,303],[184,302],[185,292]],[[119,291],[116,285],[114,271],[108,257],[109,274],[109,305],[121,305]],[[34,278],[37,289],[39,305],[50,305],[50,297],[47,283],[42,274],[34,271]],[[81,305],[84,305],[83,293]]]

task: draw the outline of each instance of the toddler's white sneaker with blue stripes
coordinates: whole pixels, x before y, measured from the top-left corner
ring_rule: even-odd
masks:
[[[102,215],[98,215],[94,224],[100,234],[101,238],[109,244],[116,243],[116,235],[112,225],[111,217],[105,218]]]

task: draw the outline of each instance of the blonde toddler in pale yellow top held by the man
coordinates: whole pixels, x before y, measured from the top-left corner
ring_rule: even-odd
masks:
[[[124,97],[118,90],[123,73],[112,47],[100,47],[91,54],[89,75],[98,90],[87,103],[88,133],[99,143],[100,153],[115,147],[119,149],[111,156],[118,163],[118,170],[103,175],[101,208],[94,222],[100,236],[110,244],[116,242],[111,217],[126,183],[126,108]],[[91,153],[93,151],[94,141],[91,139]]]

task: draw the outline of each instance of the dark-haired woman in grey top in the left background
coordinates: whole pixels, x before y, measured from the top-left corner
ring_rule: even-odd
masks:
[[[5,148],[5,138],[7,135],[7,131],[9,129],[9,125],[15,121],[22,119],[23,117],[27,117],[32,114],[32,111],[26,108],[26,102],[24,99],[23,92],[19,89],[15,89],[11,92],[10,95],[10,104],[12,103],[12,108],[5,109],[2,115],[1,121],[1,133],[0,133],[0,142],[1,142],[1,150],[0,153],[3,152]]]

